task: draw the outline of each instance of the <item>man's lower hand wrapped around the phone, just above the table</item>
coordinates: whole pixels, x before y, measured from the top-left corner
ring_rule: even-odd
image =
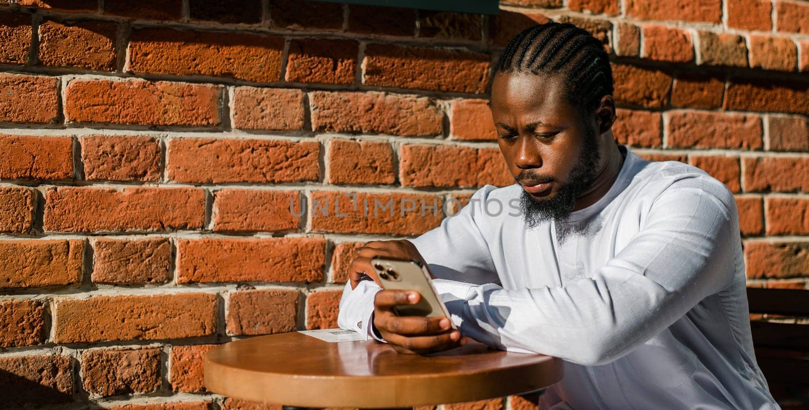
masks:
[[[393,307],[418,303],[415,291],[386,289],[374,298],[374,327],[399,353],[428,354],[465,345],[467,337],[453,330],[447,317],[396,316]]]

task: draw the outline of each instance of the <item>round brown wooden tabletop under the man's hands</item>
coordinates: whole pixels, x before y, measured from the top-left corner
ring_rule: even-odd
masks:
[[[470,341],[438,354],[399,354],[375,340],[321,341],[280,333],[231,341],[205,355],[205,387],[235,399],[296,407],[405,408],[536,391],[561,359]]]

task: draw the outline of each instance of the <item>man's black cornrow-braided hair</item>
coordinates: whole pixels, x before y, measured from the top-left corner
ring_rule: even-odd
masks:
[[[498,73],[532,73],[559,76],[568,90],[568,101],[594,111],[604,95],[612,95],[612,68],[604,45],[586,30],[571,23],[544,23],[520,31],[498,57],[487,94]]]

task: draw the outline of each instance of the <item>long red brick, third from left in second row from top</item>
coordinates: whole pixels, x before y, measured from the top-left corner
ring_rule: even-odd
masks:
[[[277,36],[144,28],[132,34],[126,70],[277,82],[283,49]]]

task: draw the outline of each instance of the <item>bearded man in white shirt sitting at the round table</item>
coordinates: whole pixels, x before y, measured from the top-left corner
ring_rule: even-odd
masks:
[[[470,337],[562,358],[540,408],[777,408],[753,352],[733,195],[700,169],[616,144],[602,44],[570,24],[528,28],[489,90],[517,183],[482,187],[411,241],[358,249],[340,326],[402,353]],[[375,256],[426,261],[460,332],[393,315],[420,295],[362,280]]]

